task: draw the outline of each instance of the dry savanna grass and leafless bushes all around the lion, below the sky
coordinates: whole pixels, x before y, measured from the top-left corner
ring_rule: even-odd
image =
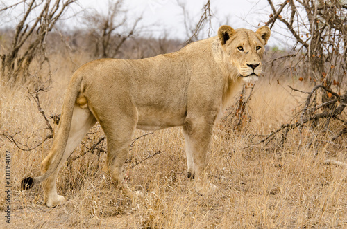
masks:
[[[337,0],[268,0],[269,21],[260,26],[284,27],[293,46],[268,47],[260,80],[236,93],[215,125],[208,156],[214,194],[190,187],[184,138],[175,127],[135,132],[126,182],[144,198],[127,199],[101,171],[107,147],[99,124],[60,170],[58,192],[66,203],[46,208],[42,187],[20,190],[22,178],[40,174],[78,66],[177,51],[201,31],[209,34],[213,17],[206,1],[194,29],[183,25],[187,42],[141,37],[142,18],[127,24],[122,1],[110,1],[105,15],[85,18],[87,29],[63,30],[56,22],[75,3],[31,0],[0,8],[24,9],[15,26],[0,29],[3,215],[6,151],[12,185],[11,223],[1,216],[1,228],[347,227],[347,5]]]

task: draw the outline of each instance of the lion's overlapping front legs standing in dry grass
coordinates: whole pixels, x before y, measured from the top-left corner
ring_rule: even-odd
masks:
[[[196,190],[201,194],[215,189],[215,186],[207,181],[205,175],[213,124],[214,118],[187,118],[183,127],[188,178],[194,178]]]

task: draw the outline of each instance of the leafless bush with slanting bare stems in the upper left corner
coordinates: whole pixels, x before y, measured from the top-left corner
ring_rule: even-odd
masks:
[[[0,12],[14,10],[19,6],[24,9],[16,25],[10,48],[0,55],[3,80],[25,81],[29,66],[39,53],[43,56],[40,58],[40,65],[44,62],[49,64],[46,56],[46,37],[62,14],[75,1],[18,1],[0,9]]]

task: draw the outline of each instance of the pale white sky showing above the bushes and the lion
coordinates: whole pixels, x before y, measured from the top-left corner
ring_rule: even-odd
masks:
[[[19,1],[19,0],[17,0]],[[16,0],[0,0],[0,8],[5,5],[10,5]],[[22,1],[22,0],[21,0]],[[65,20],[62,25],[68,26],[71,29],[83,28],[86,24],[81,19],[83,15],[88,15],[92,12],[107,12],[109,0],[78,0],[73,6],[73,10],[65,14],[63,17],[69,18],[77,13],[80,19],[73,17]],[[186,40],[187,33],[185,30],[183,10],[178,2],[185,5],[189,20],[188,24],[195,26],[202,14],[202,8],[207,0],[124,0],[124,10],[127,10],[127,23],[132,24],[137,17],[142,15],[142,21],[139,27],[142,28],[138,35],[147,37],[167,37],[173,39]],[[258,26],[264,26],[264,21],[269,20],[271,8],[266,0],[210,0],[210,9],[212,10],[212,31],[211,36],[217,35],[219,26],[228,24],[232,28],[249,28],[256,30]],[[84,10],[85,9],[85,10]],[[13,24],[16,17],[23,11],[17,7],[15,10],[0,13],[0,27],[8,24]],[[83,12],[81,12],[83,11]],[[11,18],[12,17],[12,18]],[[269,45],[284,46],[287,43],[287,38],[276,34],[287,33],[286,30],[281,30],[274,27]],[[208,30],[204,29],[199,39],[208,37]]]

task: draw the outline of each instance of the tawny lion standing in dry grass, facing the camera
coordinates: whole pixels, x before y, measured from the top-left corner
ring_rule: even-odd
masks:
[[[25,178],[28,189],[43,182],[44,203],[59,205],[56,179],[62,164],[87,131],[99,122],[107,137],[103,171],[126,196],[122,167],[135,129],[183,127],[187,176],[196,188],[205,185],[207,153],[214,122],[242,82],[262,73],[262,55],[271,31],[221,26],[218,35],[193,42],[180,51],[146,59],[98,59],[71,76],[58,131],[41,163],[41,176]]]

